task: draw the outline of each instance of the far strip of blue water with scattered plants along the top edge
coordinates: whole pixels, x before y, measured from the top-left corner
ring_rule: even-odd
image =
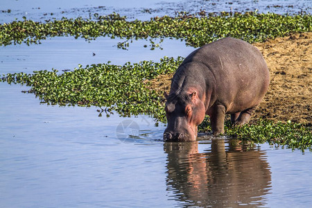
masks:
[[[8,12],[10,10],[10,12]],[[259,12],[275,12],[277,14],[297,14],[298,12],[312,12],[310,0],[115,0],[115,1],[48,1],[48,0],[2,0],[0,2],[0,23],[10,22],[26,17],[35,21],[44,19],[60,19],[62,17],[86,17],[89,14],[109,15],[117,12],[129,19],[147,20],[150,17],[170,15],[175,12],[245,12],[258,10]]]

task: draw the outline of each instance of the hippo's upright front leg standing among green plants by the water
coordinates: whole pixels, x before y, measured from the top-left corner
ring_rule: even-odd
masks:
[[[214,110],[209,114],[211,122],[211,130],[214,135],[224,133],[224,118],[225,118],[225,107],[223,105],[216,105]]]

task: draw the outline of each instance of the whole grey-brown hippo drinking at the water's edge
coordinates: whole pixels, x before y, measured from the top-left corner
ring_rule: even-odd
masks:
[[[266,61],[248,42],[225,37],[205,44],[184,59],[165,93],[164,141],[195,141],[205,114],[214,135],[224,133],[225,114],[234,125],[248,123],[269,83]]]

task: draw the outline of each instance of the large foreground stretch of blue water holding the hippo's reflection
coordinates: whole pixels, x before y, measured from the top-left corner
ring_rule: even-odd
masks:
[[[25,87],[0,84],[1,207],[311,203],[311,153],[268,144],[242,149],[209,137],[163,143],[164,125],[149,116],[39,105],[19,93]]]

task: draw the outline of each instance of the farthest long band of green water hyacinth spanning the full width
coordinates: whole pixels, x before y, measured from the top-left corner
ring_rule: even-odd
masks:
[[[231,36],[252,43],[312,30],[312,16],[309,14],[291,16],[246,12],[208,17],[180,14],[177,17],[155,17],[149,21],[127,21],[118,14],[94,16],[95,19],[63,17],[44,23],[24,17],[24,21],[1,24],[0,46],[23,42],[38,44],[40,40],[55,36],[82,37],[88,41],[109,36],[127,40],[173,37],[199,47],[221,37]],[[126,42],[119,45],[121,48],[128,46]]]

